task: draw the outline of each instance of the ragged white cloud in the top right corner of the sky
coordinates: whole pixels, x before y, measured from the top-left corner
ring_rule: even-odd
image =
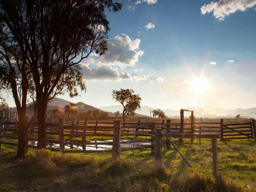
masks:
[[[231,13],[245,11],[255,4],[256,0],[220,0],[219,2],[212,1],[209,4],[204,4],[200,10],[202,14],[213,12],[215,18],[221,21]]]

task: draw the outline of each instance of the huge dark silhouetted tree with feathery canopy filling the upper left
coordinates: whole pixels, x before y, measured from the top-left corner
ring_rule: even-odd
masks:
[[[112,0],[1,1],[0,56],[8,66],[1,82],[9,81],[9,90],[18,98],[14,81],[19,80],[22,103],[15,103],[22,126],[26,95],[35,87],[38,148],[45,147],[48,101],[65,92],[78,96],[77,86],[86,90],[80,62],[92,52],[105,53],[110,30],[105,8],[118,12],[121,7]],[[20,135],[24,137],[28,127]]]

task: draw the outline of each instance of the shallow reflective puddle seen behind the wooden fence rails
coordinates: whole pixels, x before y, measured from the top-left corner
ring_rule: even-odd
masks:
[[[102,141],[96,141],[98,143],[100,142],[112,142],[113,140],[102,140]],[[122,141],[133,141],[133,140],[130,140],[130,139],[124,139]],[[97,146],[95,146],[95,144],[93,144],[95,141],[91,141],[90,145],[86,145],[86,150],[106,150],[106,149],[112,149],[112,145],[99,145],[97,144]],[[29,144],[30,145],[37,145],[37,141],[29,141]],[[135,145],[138,145],[138,146],[142,146],[142,145],[150,145],[150,143],[148,142],[143,142],[143,143],[134,143]],[[120,144],[120,146],[122,147],[125,147],[125,148],[132,148],[133,147],[133,143],[131,144]],[[47,145],[47,147],[49,147],[49,145]],[[54,148],[59,148],[60,145],[55,143],[54,145],[52,145],[52,147]],[[136,147],[136,146],[135,146]],[[70,149],[70,145],[65,145],[65,149]],[[77,145],[73,145],[73,149],[80,149],[80,150],[83,150],[82,146],[77,146]]]

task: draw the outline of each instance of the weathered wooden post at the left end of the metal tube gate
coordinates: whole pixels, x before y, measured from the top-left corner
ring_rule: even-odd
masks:
[[[112,145],[112,158],[116,159],[120,155],[120,130],[121,121],[114,121],[114,129],[113,129],[113,145]]]

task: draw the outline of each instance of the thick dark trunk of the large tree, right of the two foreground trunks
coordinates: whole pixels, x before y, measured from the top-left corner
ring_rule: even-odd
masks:
[[[37,120],[38,120],[38,143],[37,148],[45,148],[45,137],[46,137],[46,111],[47,111],[48,98],[37,97]]]

